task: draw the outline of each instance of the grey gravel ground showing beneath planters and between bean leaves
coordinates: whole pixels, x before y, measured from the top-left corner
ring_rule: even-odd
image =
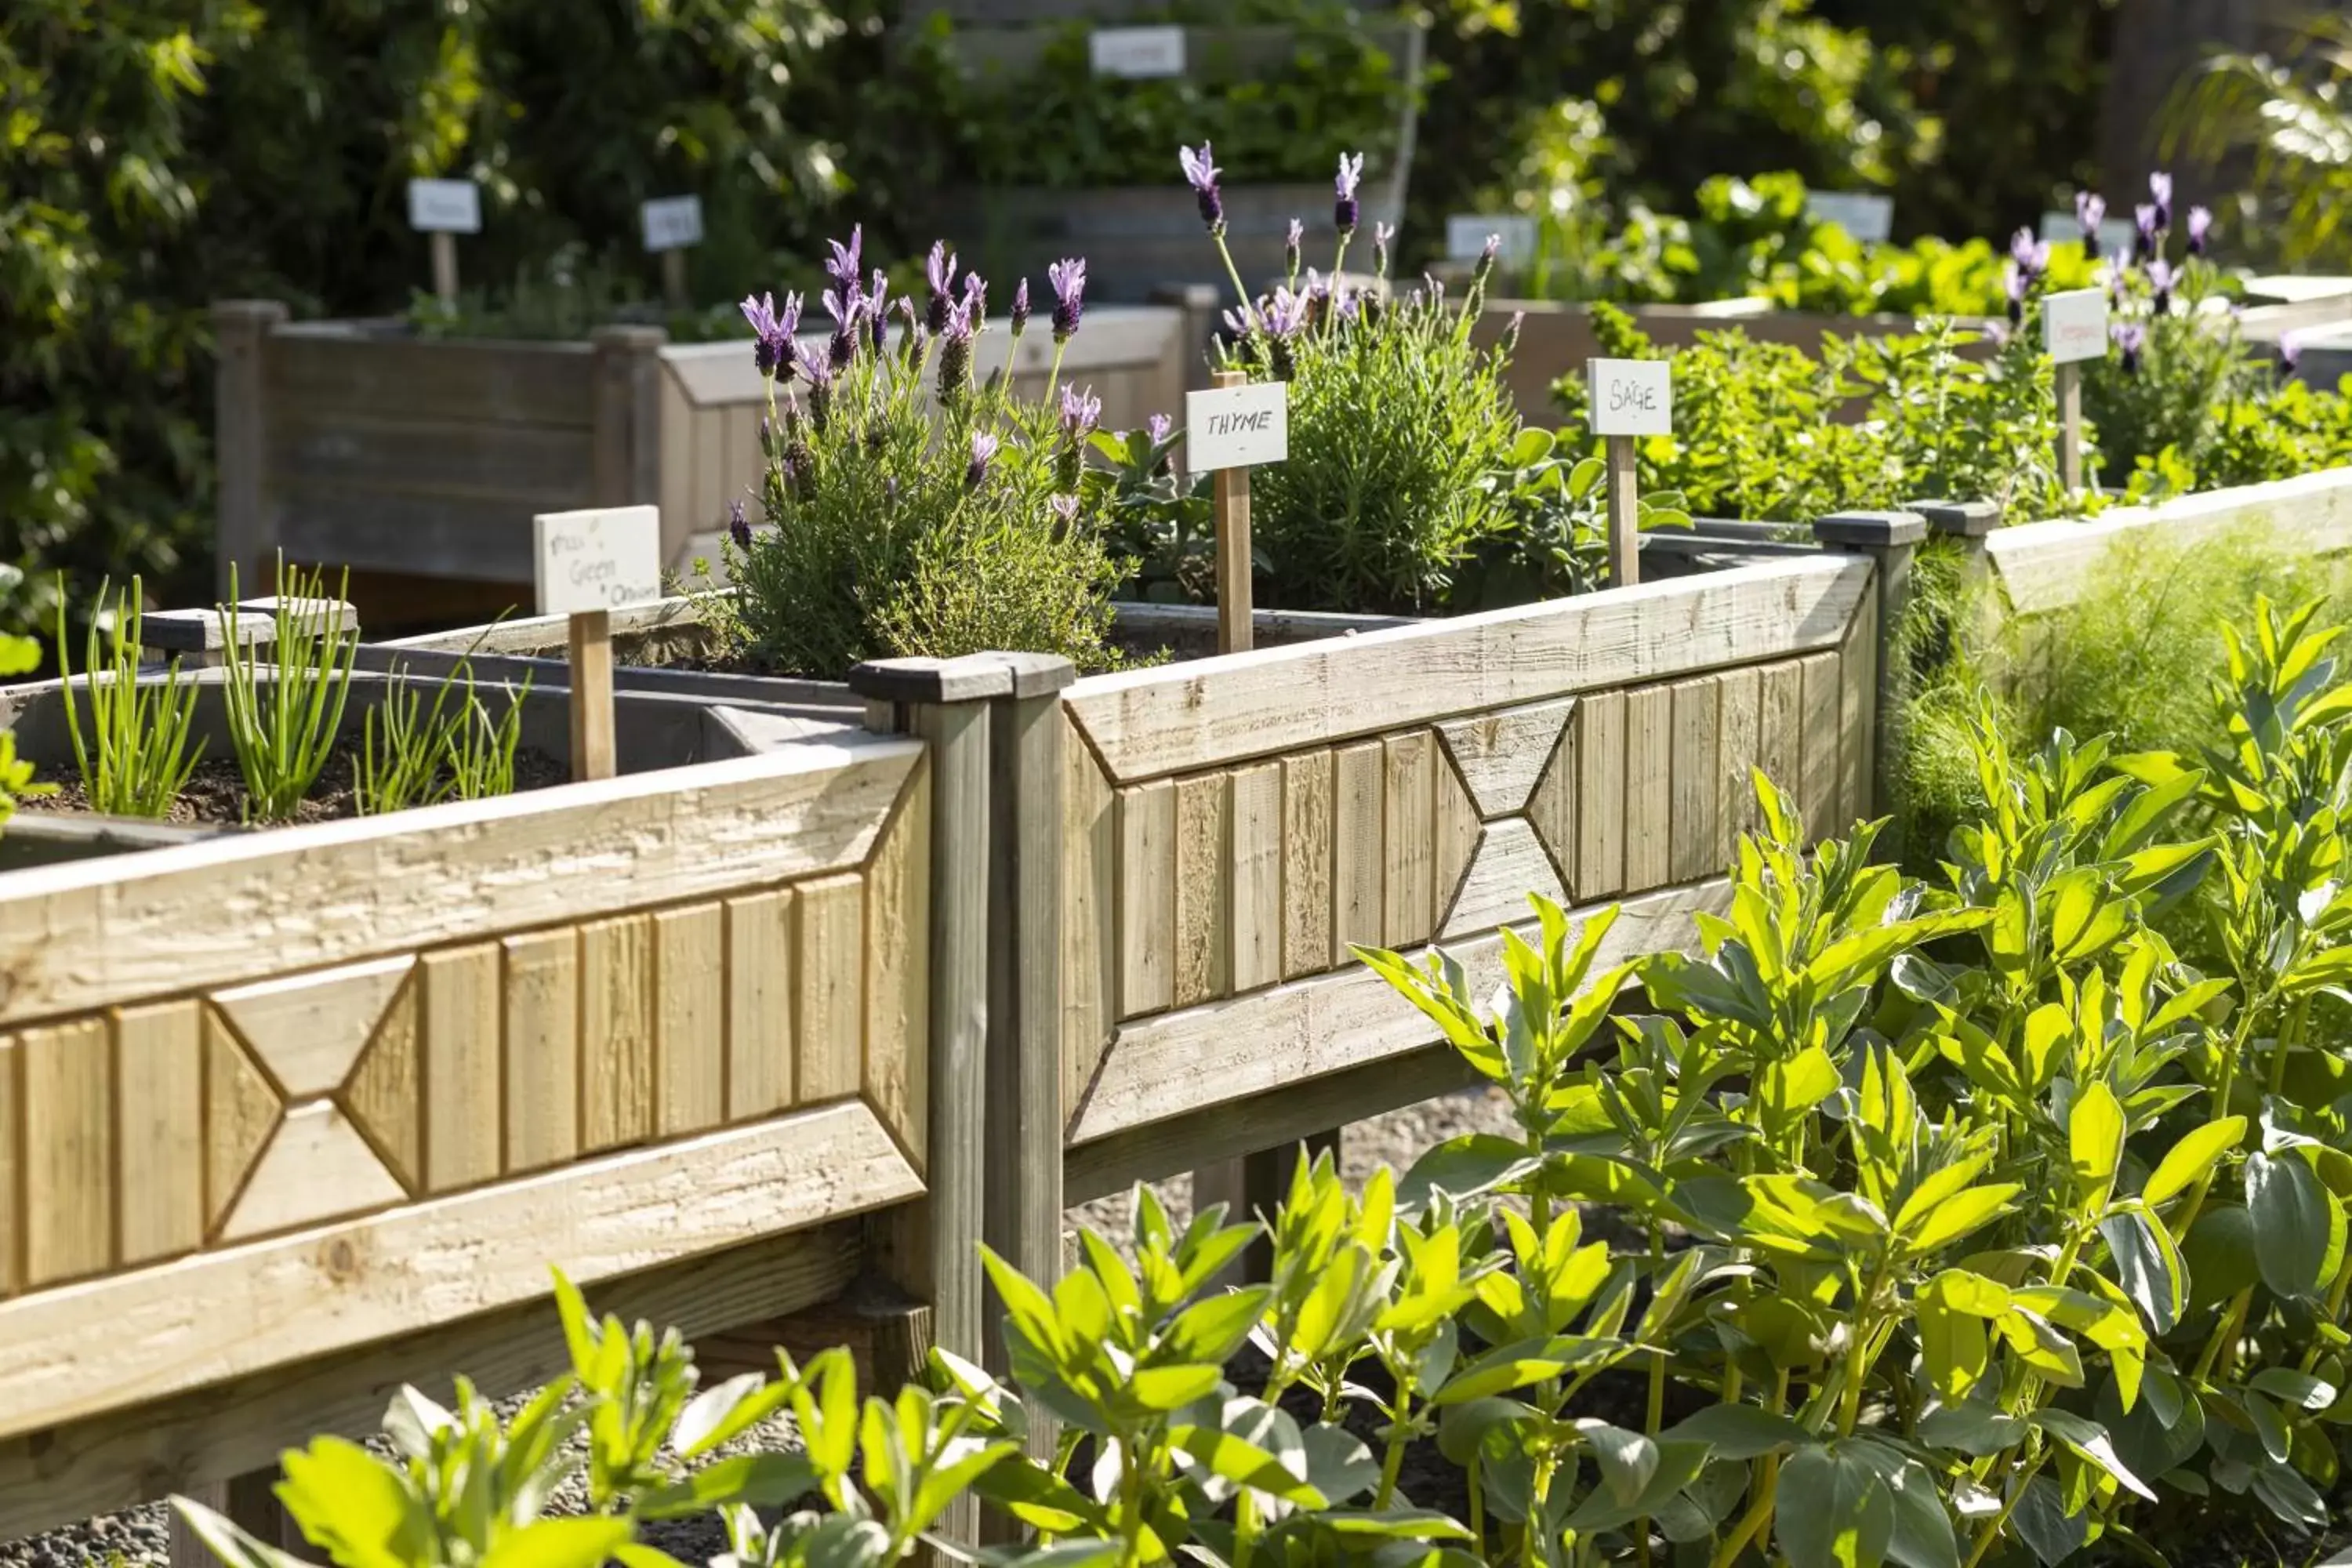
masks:
[[[1409,1105],[1374,1121],[1357,1121],[1341,1140],[1341,1168],[1350,1185],[1362,1185],[1378,1166],[1395,1166],[1399,1173],[1414,1164],[1421,1150],[1461,1133],[1508,1133],[1510,1107],[1496,1091],[1465,1091]],[[1192,1178],[1178,1175],[1157,1185],[1160,1199],[1178,1225],[1192,1218]],[[1134,1234],[1127,1225],[1127,1194],[1096,1199],[1070,1211],[1073,1225],[1091,1225],[1122,1251],[1131,1248]],[[449,1368],[461,1371],[461,1368]],[[513,1415],[527,1401],[517,1394],[501,1401],[501,1413]],[[574,1439],[579,1443],[581,1439]],[[372,1443],[388,1453],[381,1439]],[[762,1448],[797,1448],[790,1420],[779,1418],[743,1434],[727,1453],[750,1453]],[[557,1514],[586,1509],[586,1488],[572,1483],[555,1497]],[[724,1549],[724,1535],[715,1516],[675,1519],[644,1528],[644,1537],[684,1563],[703,1563]],[[303,1552],[310,1561],[325,1561],[320,1552]],[[75,1526],[64,1526],[45,1535],[28,1535],[16,1542],[0,1542],[0,1568],[162,1568],[169,1561],[169,1526],[165,1505],[101,1514]]]

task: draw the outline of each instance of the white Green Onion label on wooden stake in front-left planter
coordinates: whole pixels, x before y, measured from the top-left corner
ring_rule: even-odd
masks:
[[[612,778],[612,611],[661,597],[661,508],[532,517],[532,585],[539,614],[572,618],[572,778]]]

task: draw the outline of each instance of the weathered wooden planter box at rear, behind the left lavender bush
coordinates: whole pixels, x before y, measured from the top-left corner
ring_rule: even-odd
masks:
[[[219,574],[263,583],[278,550],[350,567],[367,625],[487,621],[532,604],[532,517],[659,503],[663,559],[715,555],[727,503],[760,475],[767,386],[748,341],[668,343],[607,327],[588,343],[423,341],[397,322],[289,322],[228,301],[219,329]],[[1009,334],[981,336],[978,374]],[[1195,346],[1167,308],[1087,313],[1063,378],[1136,428],[1183,404]],[[1051,334],[1014,383],[1042,390]]]

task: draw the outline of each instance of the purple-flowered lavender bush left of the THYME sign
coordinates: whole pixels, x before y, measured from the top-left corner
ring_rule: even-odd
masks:
[[[800,675],[983,649],[1112,663],[1120,567],[1101,491],[1082,482],[1101,400],[1061,383],[1087,263],[1051,268],[1054,360],[1035,400],[1002,371],[976,378],[988,284],[957,280],[946,244],[931,247],[922,301],[891,299],[884,273],[863,270],[861,233],[833,242],[826,273],[818,303],[833,331],[821,346],[797,339],[800,294],[781,308],[743,301],[769,386],[767,527],[736,508],[722,545],[736,592],[715,604],[722,635],[760,668]],[[1009,327],[1014,343],[1030,331],[1025,280]]]

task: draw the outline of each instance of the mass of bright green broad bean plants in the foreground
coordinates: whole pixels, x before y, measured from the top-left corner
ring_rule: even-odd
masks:
[[[1536,898],[1482,973],[1359,950],[1510,1105],[1270,1215],[988,1255],[1007,1378],[847,1356],[696,1392],[595,1326],[501,1425],[393,1406],[280,1495],[341,1568],[668,1568],[637,1523],[717,1507],[729,1568],[875,1568],[969,1490],[1023,1568],[1980,1568],[2159,1559],[2180,1526],[2331,1521],[2352,1335],[2352,679],[2314,609],[2232,635],[2211,755],[1987,710],[1985,799],[1933,882],[1879,825],[1804,849],[1757,776],[1691,954],[1609,961],[1613,910]],[[2183,959],[2220,954],[2211,971]],[[2176,940],[2178,938],[2178,940]],[[1221,1279],[1270,1244],[1261,1284]],[[790,1413],[797,1453],[710,1460]],[[567,1443],[574,1432],[586,1443]],[[586,1476],[588,1519],[548,1519]],[[285,1559],[181,1505],[233,1568]]]

